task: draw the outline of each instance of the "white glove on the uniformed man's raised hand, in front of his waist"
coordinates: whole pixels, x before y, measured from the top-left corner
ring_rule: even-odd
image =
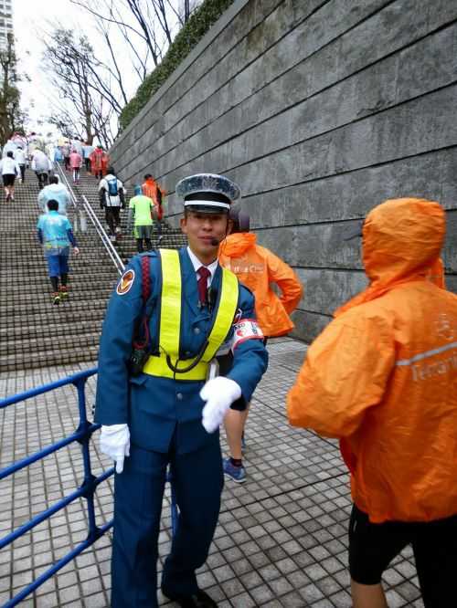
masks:
[[[207,433],[214,433],[224,420],[228,408],[241,396],[241,388],[234,380],[218,376],[208,380],[200,391],[207,404],[203,408],[202,425]]]

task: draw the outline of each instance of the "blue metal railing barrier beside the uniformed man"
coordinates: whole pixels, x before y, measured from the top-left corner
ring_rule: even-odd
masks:
[[[100,477],[94,477],[90,470],[90,453],[89,453],[89,442],[90,435],[101,425],[94,425],[90,423],[87,419],[86,415],[86,395],[84,393],[84,388],[87,379],[90,376],[93,376],[97,373],[97,368],[93,368],[88,370],[87,372],[79,372],[75,373],[69,378],[65,378],[63,380],[59,380],[55,383],[45,384],[44,386],[40,386],[39,388],[32,389],[30,391],[26,391],[25,393],[18,393],[12,397],[8,397],[0,401],[0,409],[5,408],[8,405],[17,404],[20,401],[25,401],[26,399],[30,399],[31,397],[35,397],[38,394],[48,393],[48,391],[52,391],[60,386],[66,386],[68,384],[73,384],[76,386],[78,391],[78,406],[80,410],[80,425],[78,426],[75,433],[69,435],[65,439],[58,441],[57,444],[53,446],[48,446],[31,456],[27,456],[27,458],[23,458],[19,462],[16,462],[14,465],[6,466],[6,468],[0,470],[0,480],[13,475],[16,471],[19,471],[21,468],[25,466],[31,465],[37,460],[56,452],[58,449],[64,446],[68,446],[70,443],[74,441],[78,441],[81,445],[82,457],[84,463],[84,479],[82,481],[81,486],[74,492],[72,492],[68,497],[62,498],[58,500],[52,507],[46,509],[33,519],[30,519],[26,524],[21,526],[20,528],[14,530],[3,539],[0,539],[0,550],[3,549],[6,545],[16,540],[19,536],[25,534],[28,530],[35,528],[39,523],[48,519],[54,513],[57,513],[61,508],[67,507],[70,502],[76,500],[76,498],[86,498],[87,500],[87,512],[88,512],[88,522],[89,522],[89,532],[86,540],[80,542],[80,544],[71,550],[67,555],[65,555],[61,560],[57,561],[51,568],[47,571],[43,572],[34,582],[31,582],[27,587],[25,587],[21,592],[17,593],[15,597],[13,597],[8,603],[5,603],[5,608],[10,608],[11,606],[16,606],[17,603],[24,600],[27,595],[31,592],[34,592],[39,585],[43,584],[43,582],[47,581],[51,576],[53,576],[60,568],[63,568],[69,561],[73,560],[77,555],[79,555],[83,550],[87,549],[95,540],[100,539],[100,537],[110,528],[112,528],[112,521],[107,524],[101,526],[99,528],[95,521],[95,509],[93,503],[93,495],[95,489],[102,481],[110,477],[114,468],[110,468],[105,471]]]

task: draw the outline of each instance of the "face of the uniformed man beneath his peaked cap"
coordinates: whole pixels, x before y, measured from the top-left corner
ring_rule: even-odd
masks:
[[[181,230],[198,259],[209,264],[218,257],[219,243],[228,232],[228,215],[187,211],[181,219]],[[218,242],[213,245],[213,241]]]

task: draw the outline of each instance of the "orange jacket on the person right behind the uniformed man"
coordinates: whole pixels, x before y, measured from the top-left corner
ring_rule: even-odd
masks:
[[[230,268],[256,299],[256,316],[265,336],[282,336],[293,329],[289,315],[302,298],[303,288],[292,268],[265,247],[252,233],[229,235],[219,247],[219,264]],[[281,297],[270,283],[276,283]]]

